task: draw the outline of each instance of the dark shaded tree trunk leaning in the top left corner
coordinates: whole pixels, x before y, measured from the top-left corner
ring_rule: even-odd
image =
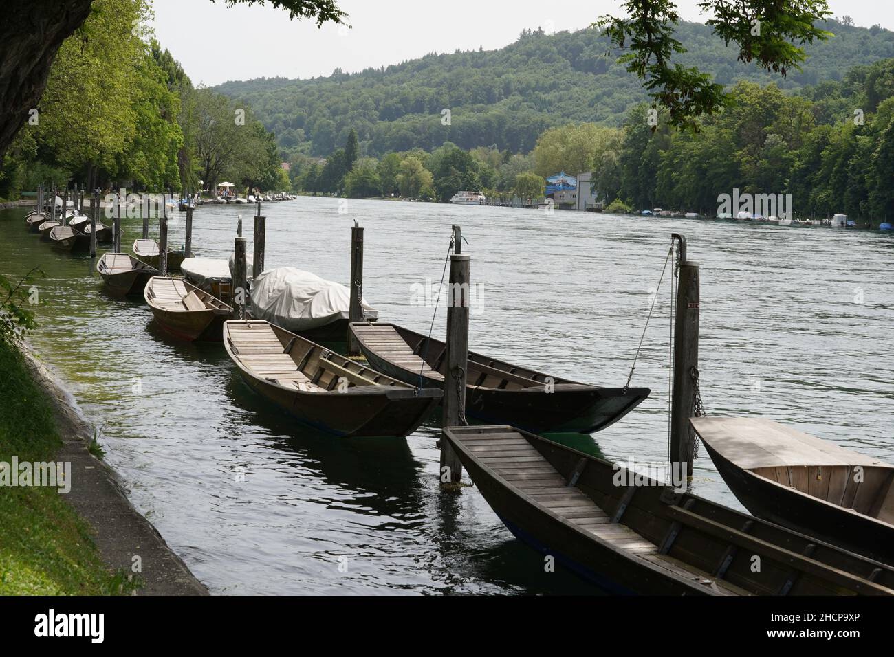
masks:
[[[93,0],[4,0],[0,21],[0,164],[46,86],[56,52]],[[39,119],[39,114],[38,114]]]

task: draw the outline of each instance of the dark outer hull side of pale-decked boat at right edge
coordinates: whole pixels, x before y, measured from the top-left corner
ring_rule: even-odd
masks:
[[[894,566],[894,526],[801,493],[736,466],[703,444],[730,491],[757,518]]]

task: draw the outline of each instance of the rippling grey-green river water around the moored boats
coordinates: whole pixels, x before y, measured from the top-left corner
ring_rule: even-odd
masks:
[[[367,301],[382,320],[426,333],[433,313],[426,286],[440,282],[450,227],[459,223],[477,285],[472,349],[614,386],[627,380],[671,232],[683,232],[689,259],[701,264],[708,413],[772,417],[894,461],[889,235],[344,204],[266,204],[267,267],[347,283],[357,219],[366,228]],[[229,256],[239,212],[250,240],[252,206],[196,210],[198,255]],[[595,592],[561,569],[544,572],[540,555],[513,539],[476,488],[440,491],[436,418],[406,440],[310,434],[258,400],[223,347],[159,333],[144,303],[105,295],[95,263],[54,252],[25,230],[24,214],[0,212],[0,273],[19,277],[39,265],[46,274],[30,341],[102,427],[105,459],[131,501],[213,593]],[[183,222],[173,223],[171,243],[181,244]],[[124,244],[139,237],[140,224],[125,221]],[[578,437],[578,449],[621,461],[666,459],[670,299],[666,278],[633,379],[652,396],[592,439]],[[443,333],[442,308],[434,335]],[[704,453],[693,488],[741,509]]]

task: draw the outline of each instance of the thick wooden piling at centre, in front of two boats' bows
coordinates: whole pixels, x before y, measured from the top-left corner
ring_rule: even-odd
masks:
[[[443,425],[466,425],[466,371],[468,366],[469,257],[450,258],[450,288],[447,295],[447,352],[444,356]],[[462,464],[450,442],[441,438],[441,483],[456,483]]]

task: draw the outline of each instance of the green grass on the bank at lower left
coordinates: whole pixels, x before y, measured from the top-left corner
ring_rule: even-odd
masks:
[[[21,353],[0,341],[0,461],[55,460],[53,407]],[[0,594],[90,595],[129,590],[103,568],[88,527],[55,488],[0,486]]]

